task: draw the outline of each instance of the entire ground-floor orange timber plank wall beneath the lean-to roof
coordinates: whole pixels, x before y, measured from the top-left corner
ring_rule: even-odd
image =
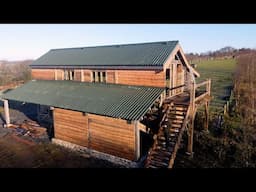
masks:
[[[126,120],[54,109],[55,138],[135,160],[134,124]]]

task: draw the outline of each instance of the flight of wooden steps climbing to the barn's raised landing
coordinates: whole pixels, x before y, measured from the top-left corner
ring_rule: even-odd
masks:
[[[154,144],[146,159],[146,168],[171,168],[185,129],[187,103],[167,103]]]

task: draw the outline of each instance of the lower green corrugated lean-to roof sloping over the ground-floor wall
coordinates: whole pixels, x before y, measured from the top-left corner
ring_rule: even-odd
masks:
[[[163,88],[85,83],[30,81],[1,97],[127,120],[138,120]]]

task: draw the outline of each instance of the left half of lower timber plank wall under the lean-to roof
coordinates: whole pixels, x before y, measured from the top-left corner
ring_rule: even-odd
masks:
[[[88,147],[88,116],[59,108],[53,114],[55,138]]]

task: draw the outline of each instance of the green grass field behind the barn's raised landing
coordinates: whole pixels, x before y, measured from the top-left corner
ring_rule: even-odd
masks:
[[[201,77],[196,80],[197,83],[204,81],[206,78],[212,80],[211,93],[214,98],[210,102],[211,112],[222,113],[223,106],[230,96],[236,60],[209,60],[196,64],[196,70],[201,75]]]

